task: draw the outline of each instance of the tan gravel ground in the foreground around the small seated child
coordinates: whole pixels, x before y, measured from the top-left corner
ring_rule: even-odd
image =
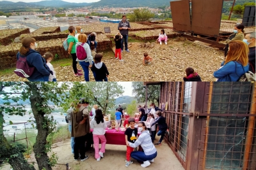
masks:
[[[130,52],[122,52],[124,62],[112,59],[102,61],[109,70],[109,81],[183,81],[186,67],[193,67],[202,81],[215,81],[212,73],[220,67],[223,52],[200,42],[169,39],[168,45],[159,43],[129,43]],[[153,58],[152,64],[143,66],[143,53]],[[78,68],[81,69],[79,64]],[[83,76],[74,76],[72,66],[56,67],[58,81],[84,81]],[[90,80],[94,81],[92,72]],[[0,81],[26,81],[16,74],[0,77]]]

